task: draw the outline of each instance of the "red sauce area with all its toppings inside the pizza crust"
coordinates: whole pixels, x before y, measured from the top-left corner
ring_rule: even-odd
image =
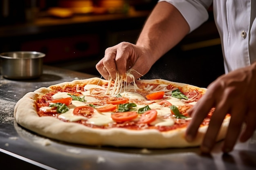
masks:
[[[136,87],[134,86],[136,83]],[[52,86],[37,101],[40,117],[53,116],[92,128],[157,129],[161,132],[184,128],[191,118],[186,113],[204,91],[180,88],[161,81],[136,81],[115,95],[115,82]],[[124,86],[124,84],[122,84]],[[202,125],[208,124],[211,114]]]

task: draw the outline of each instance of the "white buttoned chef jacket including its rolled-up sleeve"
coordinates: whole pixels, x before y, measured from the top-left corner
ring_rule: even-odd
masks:
[[[256,62],[256,0],[159,0],[173,4],[190,32],[213,14],[222,42],[225,73]]]

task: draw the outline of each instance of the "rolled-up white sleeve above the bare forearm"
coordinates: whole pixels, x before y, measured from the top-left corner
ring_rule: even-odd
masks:
[[[192,32],[209,18],[207,9],[213,0],[159,0],[158,2],[162,1],[173,4],[180,11]]]

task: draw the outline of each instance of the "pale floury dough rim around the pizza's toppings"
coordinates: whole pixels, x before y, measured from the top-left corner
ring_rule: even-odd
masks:
[[[74,82],[98,81],[99,78],[90,78]],[[70,84],[64,82],[52,86]],[[51,86],[50,86],[51,87]],[[160,132],[158,130],[129,130],[125,128],[98,129],[89,128],[74,122],[63,122],[55,117],[39,117],[36,111],[35,101],[38,95],[51,91],[48,88],[39,88],[22,97],[14,108],[14,118],[18,124],[45,137],[64,141],[72,144],[89,146],[117,146],[139,148],[183,148],[199,146],[208,126],[202,126],[193,142],[184,139],[186,128]],[[223,121],[218,141],[225,137],[229,118]]]

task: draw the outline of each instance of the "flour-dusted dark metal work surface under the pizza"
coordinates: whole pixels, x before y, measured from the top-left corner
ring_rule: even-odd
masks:
[[[199,148],[115,148],[66,144],[36,135],[13,118],[16,102],[27,92],[60,82],[93,77],[84,73],[44,66],[38,79],[0,77],[0,169],[58,170],[253,170],[256,169],[256,134],[234,151],[223,155],[219,142],[209,155]],[[150,141],[148,141],[150,142]]]

